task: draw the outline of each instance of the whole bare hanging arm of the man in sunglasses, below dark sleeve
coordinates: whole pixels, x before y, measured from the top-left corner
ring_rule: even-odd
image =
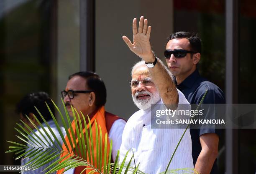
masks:
[[[215,133],[202,134],[200,143],[202,150],[197,158],[195,170],[200,174],[210,174],[212,165],[218,156],[219,137]]]

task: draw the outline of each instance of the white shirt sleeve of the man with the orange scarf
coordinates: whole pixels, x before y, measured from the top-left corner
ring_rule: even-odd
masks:
[[[112,139],[112,159],[115,162],[115,157],[117,154],[118,149],[120,149],[122,143],[122,134],[123,129],[125,127],[126,122],[123,119],[116,120],[109,131],[109,137]]]

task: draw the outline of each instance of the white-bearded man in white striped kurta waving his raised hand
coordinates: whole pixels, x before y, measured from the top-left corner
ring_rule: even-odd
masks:
[[[126,158],[127,164],[134,154],[131,166],[138,167],[144,173],[159,174],[165,172],[185,129],[162,129],[164,125],[159,129],[151,129],[154,124],[151,112],[164,109],[190,110],[190,104],[175,87],[169,70],[152,52],[149,42],[151,27],[148,27],[148,20],[141,16],[138,26],[137,30],[135,18],[133,43],[128,37],[123,36],[130,50],[143,61],[134,65],[131,71],[132,98],[140,110],[135,112],[125,125],[120,147],[120,162],[130,150]],[[193,168],[191,153],[191,137],[187,131],[168,169]],[[179,172],[182,171],[177,171]]]

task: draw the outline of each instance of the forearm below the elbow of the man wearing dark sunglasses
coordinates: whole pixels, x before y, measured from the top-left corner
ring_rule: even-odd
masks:
[[[197,158],[195,170],[200,172],[200,174],[210,174],[217,155],[218,152],[202,149]]]

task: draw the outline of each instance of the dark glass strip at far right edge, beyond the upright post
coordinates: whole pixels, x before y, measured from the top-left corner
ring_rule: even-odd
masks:
[[[256,2],[239,0],[238,102],[256,103]],[[254,120],[256,122],[256,120]],[[239,173],[256,172],[256,129],[238,130]]]

